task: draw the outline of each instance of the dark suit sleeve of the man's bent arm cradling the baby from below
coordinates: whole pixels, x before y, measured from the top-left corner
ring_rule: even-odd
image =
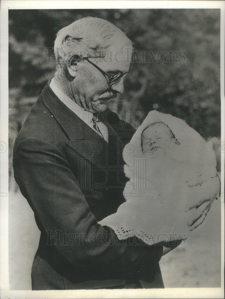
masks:
[[[68,161],[49,142],[39,138],[20,141],[14,152],[13,168],[42,232],[82,236],[82,246],[55,246],[71,266],[88,264],[93,269],[102,266],[128,275],[139,272],[143,265],[151,268],[160,260],[163,246],[140,242],[134,245],[137,244],[134,239],[132,244],[125,243],[111,228],[97,223]],[[78,196],[70,197],[71,192]]]

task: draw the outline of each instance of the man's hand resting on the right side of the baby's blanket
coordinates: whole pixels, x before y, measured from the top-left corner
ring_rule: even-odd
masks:
[[[218,176],[204,182],[202,187],[202,190],[204,190],[202,197],[198,198],[198,200],[192,200],[186,206],[185,212],[192,209],[195,210],[188,222],[190,231],[197,228],[204,221],[213,201],[218,197],[220,189],[220,180]]]

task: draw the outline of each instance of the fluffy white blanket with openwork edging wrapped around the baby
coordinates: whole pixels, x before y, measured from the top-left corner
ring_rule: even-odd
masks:
[[[141,133],[154,122],[168,125],[180,143],[166,155],[142,151]],[[201,184],[216,175],[212,142],[206,143],[185,121],[151,111],[124,148],[123,158],[129,178],[126,202],[100,224],[113,228],[119,239],[137,236],[149,245],[186,239],[190,212],[185,213],[185,207],[194,198],[209,198],[210,187]]]

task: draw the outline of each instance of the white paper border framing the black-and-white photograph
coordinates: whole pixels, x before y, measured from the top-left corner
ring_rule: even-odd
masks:
[[[104,8],[218,8],[221,10],[221,142],[225,142],[224,98],[224,1],[1,1],[0,15],[0,284],[1,298],[224,298],[224,153],[221,155],[221,288],[174,288],[128,290],[13,291],[9,289],[8,255],[8,10],[9,9],[104,9]]]

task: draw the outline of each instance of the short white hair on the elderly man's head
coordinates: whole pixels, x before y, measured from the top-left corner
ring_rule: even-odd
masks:
[[[56,77],[65,75],[66,62],[74,55],[79,57],[105,57],[112,46],[127,46],[133,51],[132,42],[123,31],[112,23],[94,17],[79,19],[58,31],[54,54]]]

